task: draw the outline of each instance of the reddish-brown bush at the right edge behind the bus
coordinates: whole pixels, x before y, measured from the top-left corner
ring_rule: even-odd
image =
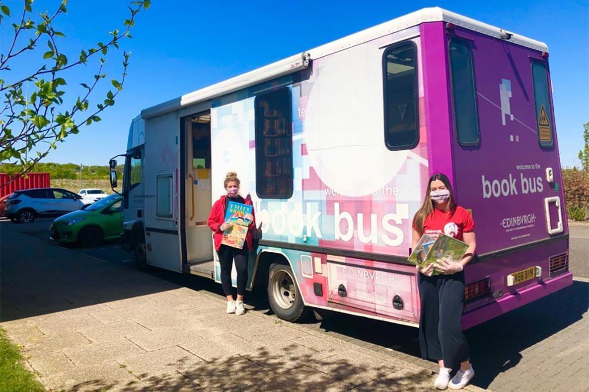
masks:
[[[562,169],[562,187],[568,219],[589,219],[589,172]]]

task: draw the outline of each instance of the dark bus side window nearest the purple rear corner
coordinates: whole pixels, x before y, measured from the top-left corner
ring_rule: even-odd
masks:
[[[385,143],[389,150],[412,149],[419,142],[417,49],[404,42],[386,49]]]

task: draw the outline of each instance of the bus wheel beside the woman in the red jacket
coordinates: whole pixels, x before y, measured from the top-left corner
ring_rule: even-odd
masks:
[[[274,314],[286,321],[302,320],[311,313],[303,304],[292,270],[283,264],[270,265],[268,300]]]

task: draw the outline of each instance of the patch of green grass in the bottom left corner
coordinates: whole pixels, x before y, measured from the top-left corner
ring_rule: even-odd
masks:
[[[44,391],[21,361],[18,347],[8,340],[6,332],[0,328],[0,391]]]

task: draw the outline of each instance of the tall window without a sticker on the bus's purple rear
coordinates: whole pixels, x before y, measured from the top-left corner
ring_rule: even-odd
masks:
[[[477,145],[479,126],[472,51],[468,42],[452,38],[449,43],[452,75],[452,108],[458,143]]]

